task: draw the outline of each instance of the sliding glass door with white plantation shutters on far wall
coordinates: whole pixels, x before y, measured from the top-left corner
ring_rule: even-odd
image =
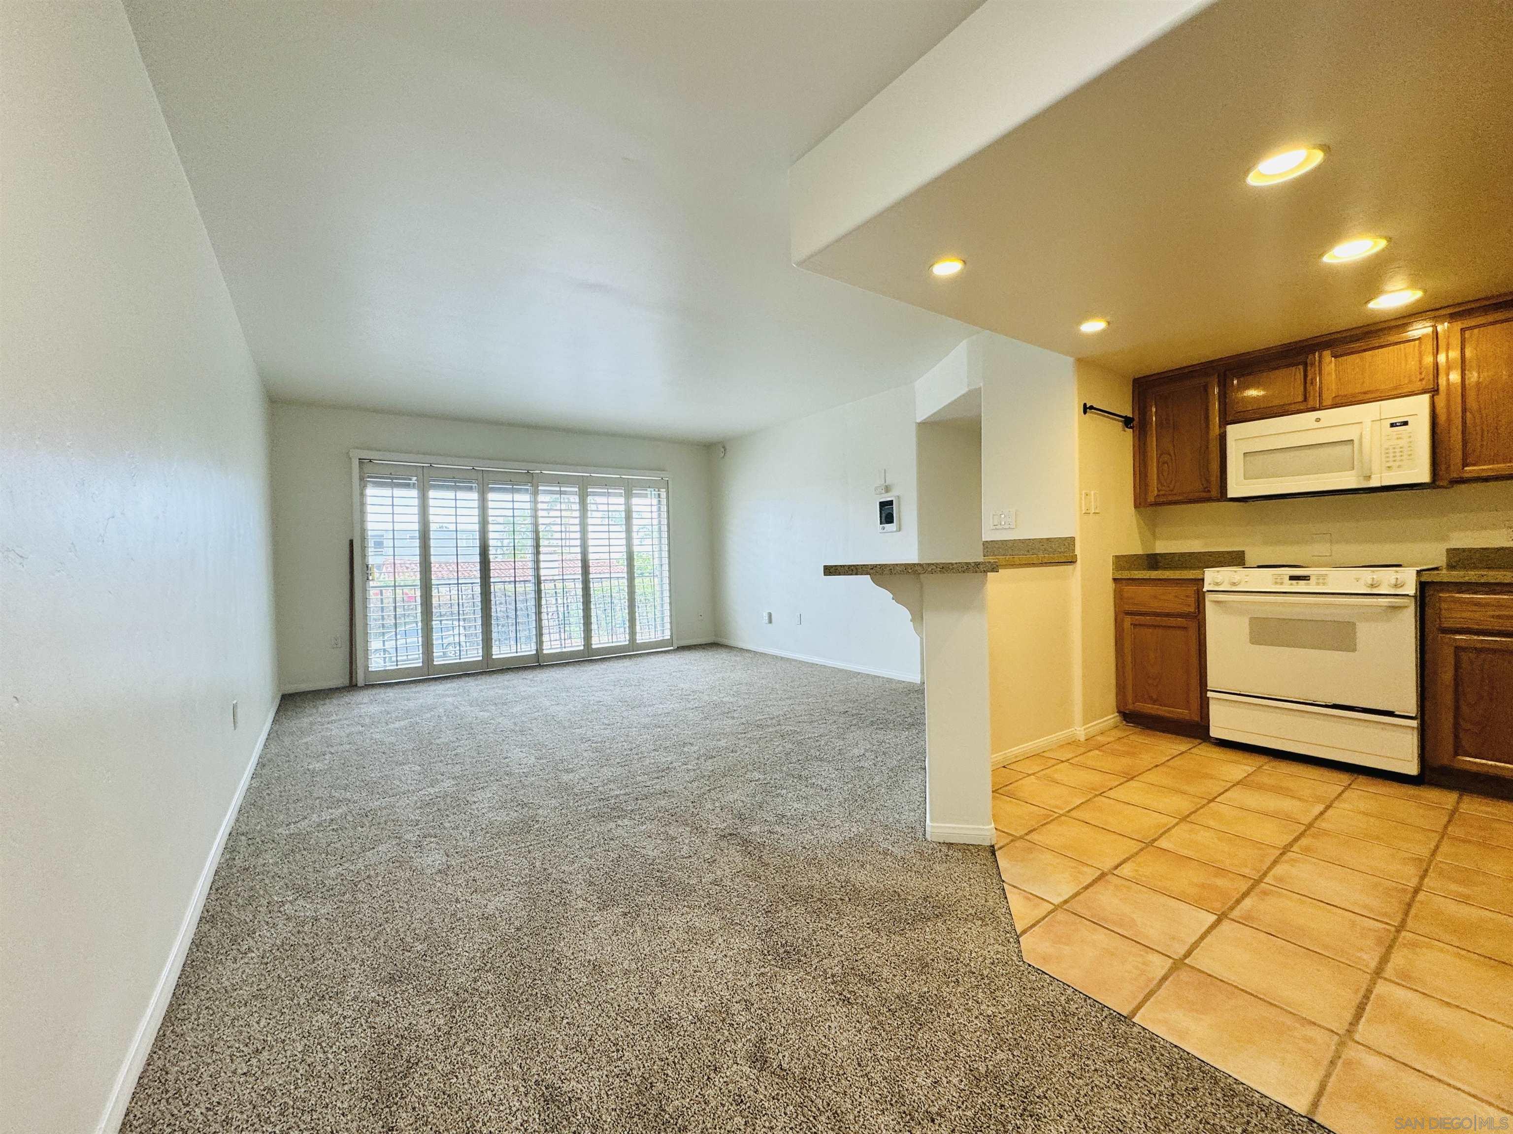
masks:
[[[672,646],[667,482],[359,466],[365,680]]]

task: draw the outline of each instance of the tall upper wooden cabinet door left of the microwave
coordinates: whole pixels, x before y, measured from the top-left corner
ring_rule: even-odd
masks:
[[[1135,387],[1135,507],[1224,493],[1219,380],[1213,370]]]

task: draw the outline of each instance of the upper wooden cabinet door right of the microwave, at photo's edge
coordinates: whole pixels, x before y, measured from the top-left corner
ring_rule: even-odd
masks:
[[[1445,476],[1513,476],[1513,308],[1445,330]]]

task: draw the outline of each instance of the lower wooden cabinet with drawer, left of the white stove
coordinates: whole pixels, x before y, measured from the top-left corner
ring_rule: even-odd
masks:
[[[1121,714],[1207,724],[1201,579],[1117,579],[1114,650]]]

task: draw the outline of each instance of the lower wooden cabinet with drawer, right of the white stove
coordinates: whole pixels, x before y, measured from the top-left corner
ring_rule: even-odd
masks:
[[[1425,591],[1424,764],[1513,779],[1513,585]]]

